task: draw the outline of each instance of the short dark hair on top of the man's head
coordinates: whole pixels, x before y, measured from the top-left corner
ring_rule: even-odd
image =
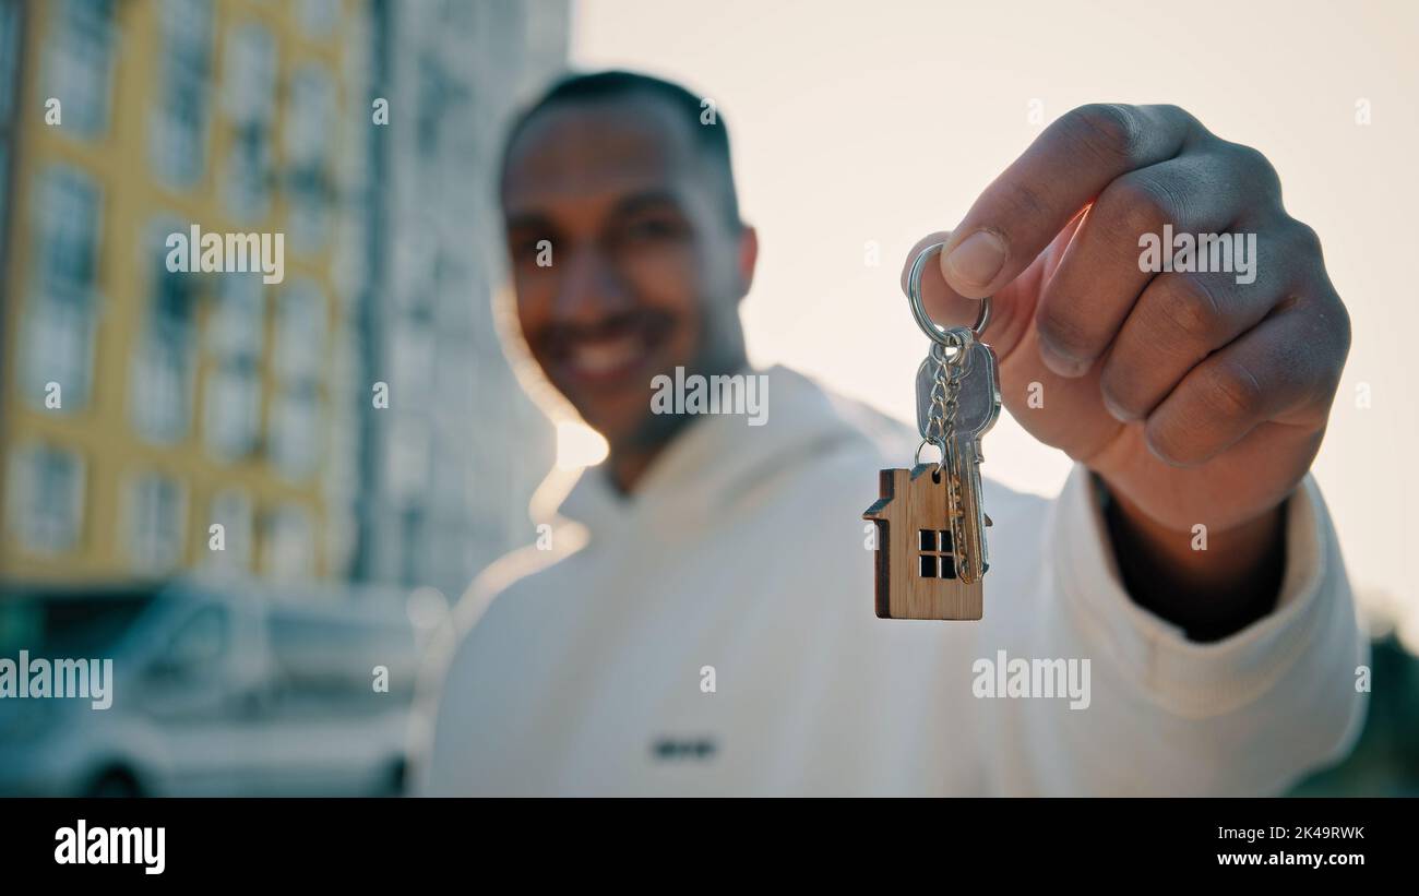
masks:
[[[705,106],[705,99],[671,81],[633,71],[607,69],[597,72],[570,74],[549,86],[532,105],[526,106],[512,121],[507,140],[502,143],[502,160],[498,166],[498,180],[507,176],[508,155],[528,122],[543,109],[561,105],[576,105],[622,99],[626,96],[651,96],[674,109],[690,129],[695,149],[719,167],[724,174],[725,211],[729,224],[738,227],[739,197],[734,186],[734,164],[729,157],[729,129],[718,108]],[[705,115],[710,112],[710,115]]]

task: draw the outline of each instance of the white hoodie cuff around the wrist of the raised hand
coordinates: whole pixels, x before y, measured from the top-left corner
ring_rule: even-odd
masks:
[[[1307,474],[1286,509],[1286,573],[1276,608],[1216,642],[1182,629],[1128,597],[1090,474],[1076,465],[1046,526],[1064,617],[1081,645],[1120,666],[1142,696],[1185,717],[1233,712],[1266,693],[1317,638],[1332,573],[1330,522]]]

